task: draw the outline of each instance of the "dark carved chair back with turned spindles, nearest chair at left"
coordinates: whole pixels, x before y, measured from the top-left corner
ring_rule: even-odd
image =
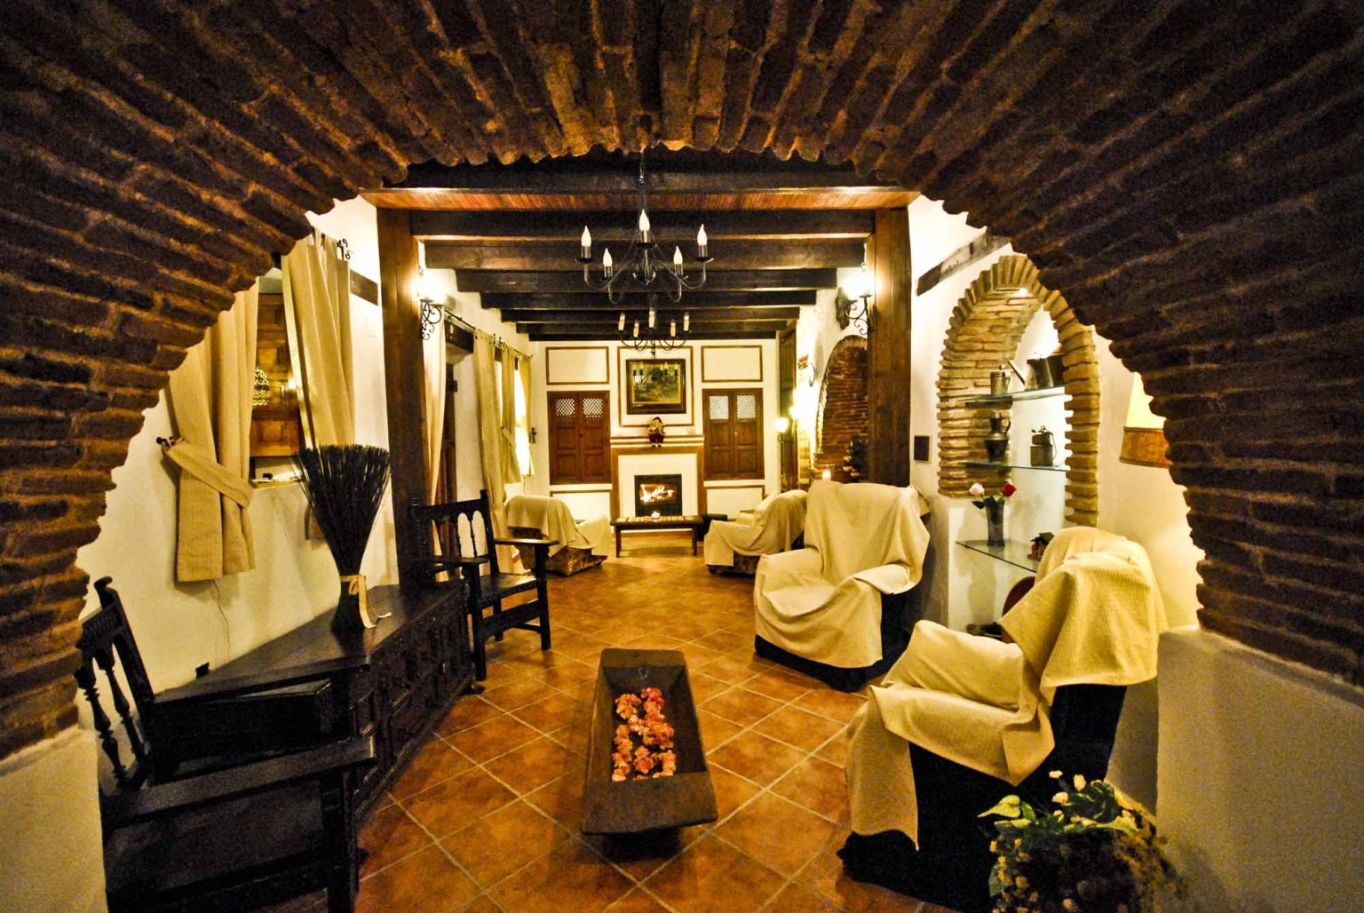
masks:
[[[112,581],[112,577],[101,577],[94,584],[95,592],[100,594],[100,609],[80,625],[80,639],[76,640],[76,650],[80,651],[80,666],[76,669],[75,678],[80,691],[85,692],[86,700],[90,701],[95,733],[104,753],[108,755],[113,766],[115,782],[119,789],[136,789],[151,770],[151,733],[147,731],[147,723],[151,719],[151,706],[155,699],[147,669],[142,665],[142,654],[138,652],[138,644],[132,639],[123,600],[117,591],[109,585]],[[132,692],[131,706],[119,682],[119,666],[123,667],[123,677],[128,684],[128,691]],[[130,764],[123,762],[113,722],[100,700],[97,670],[104,673],[109,700],[127,734],[128,747],[132,751]]]

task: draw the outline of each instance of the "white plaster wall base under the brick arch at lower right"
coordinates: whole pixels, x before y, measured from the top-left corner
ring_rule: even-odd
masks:
[[[1364,695],[1187,629],[1159,700],[1158,817],[1200,909],[1364,909]]]

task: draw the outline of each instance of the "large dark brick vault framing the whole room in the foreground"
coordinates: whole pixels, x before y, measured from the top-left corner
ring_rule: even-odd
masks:
[[[7,0],[0,755],[74,719],[110,469],[304,213],[593,145],[822,156],[1009,235],[1169,419],[1203,625],[1359,682],[1361,10]]]

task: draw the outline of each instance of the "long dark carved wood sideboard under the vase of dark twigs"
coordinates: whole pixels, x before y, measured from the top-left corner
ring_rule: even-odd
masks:
[[[261,644],[195,681],[157,695],[158,751],[292,748],[374,736],[376,763],[352,781],[356,819],[473,684],[460,588],[370,590],[391,613],[364,632],[331,631],[331,613]],[[241,696],[243,688],[266,691]],[[216,693],[229,695],[216,700]],[[169,744],[165,744],[169,742]]]

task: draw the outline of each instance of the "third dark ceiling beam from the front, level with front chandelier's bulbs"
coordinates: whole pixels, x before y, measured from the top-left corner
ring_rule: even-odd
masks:
[[[675,247],[682,248],[682,257],[696,255],[696,239],[674,246],[660,243],[659,254],[664,262],[671,262]],[[619,257],[625,244],[615,250]],[[428,242],[426,263],[428,269],[498,269],[498,270],[567,270],[581,276],[582,266],[577,262],[577,240],[572,242],[531,242],[471,244],[451,242]],[[600,257],[603,247],[593,246]],[[865,259],[861,240],[730,240],[711,244],[711,272],[732,272],[737,269],[837,269],[839,266],[859,266]],[[698,269],[687,263],[689,270]]]

